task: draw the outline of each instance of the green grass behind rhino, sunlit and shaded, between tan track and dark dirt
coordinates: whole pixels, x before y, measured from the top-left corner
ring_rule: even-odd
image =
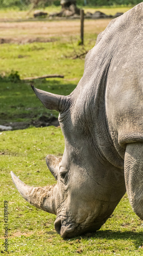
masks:
[[[94,41],[93,41],[94,42]],[[81,47],[75,44],[77,52]],[[87,48],[89,46],[87,45]],[[69,95],[82,77],[84,59],[72,59],[72,43],[60,41],[33,43],[27,45],[4,44],[1,48],[0,74],[8,75],[14,69],[20,78],[44,74],[64,74],[65,78],[38,79],[35,87],[55,94]],[[90,47],[89,47],[90,48]],[[23,58],[18,58],[18,56]],[[24,57],[26,56],[26,57]],[[58,112],[46,110],[31,89],[31,81],[5,82],[0,87],[0,124],[18,121],[31,121],[41,115],[58,117]]]

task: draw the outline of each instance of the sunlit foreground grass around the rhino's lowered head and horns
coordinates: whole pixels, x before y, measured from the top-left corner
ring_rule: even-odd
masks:
[[[45,156],[61,156],[63,151],[60,128],[51,126],[0,133],[2,255],[5,200],[9,207],[10,255],[142,255],[143,222],[133,213],[127,195],[99,231],[66,240],[54,230],[54,215],[31,206],[19,195],[10,171],[28,185],[54,184]]]

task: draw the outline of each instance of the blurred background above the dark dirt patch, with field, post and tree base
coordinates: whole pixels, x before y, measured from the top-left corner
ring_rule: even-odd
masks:
[[[45,110],[30,85],[70,94],[98,34],[139,2],[0,0],[0,125],[11,130],[58,125],[58,113]]]

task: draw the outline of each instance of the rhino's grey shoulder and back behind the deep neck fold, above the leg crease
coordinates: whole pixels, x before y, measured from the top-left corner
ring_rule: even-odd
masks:
[[[106,114],[118,152],[126,143],[143,141],[143,4],[121,19],[120,44],[113,53],[106,84]],[[123,15],[124,17],[124,15]]]

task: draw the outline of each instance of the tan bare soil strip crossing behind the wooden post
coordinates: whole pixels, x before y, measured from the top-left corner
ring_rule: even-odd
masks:
[[[99,34],[111,19],[84,20],[84,33]],[[0,22],[0,43],[54,41],[56,38],[79,36],[80,20],[36,21],[36,22]]]

